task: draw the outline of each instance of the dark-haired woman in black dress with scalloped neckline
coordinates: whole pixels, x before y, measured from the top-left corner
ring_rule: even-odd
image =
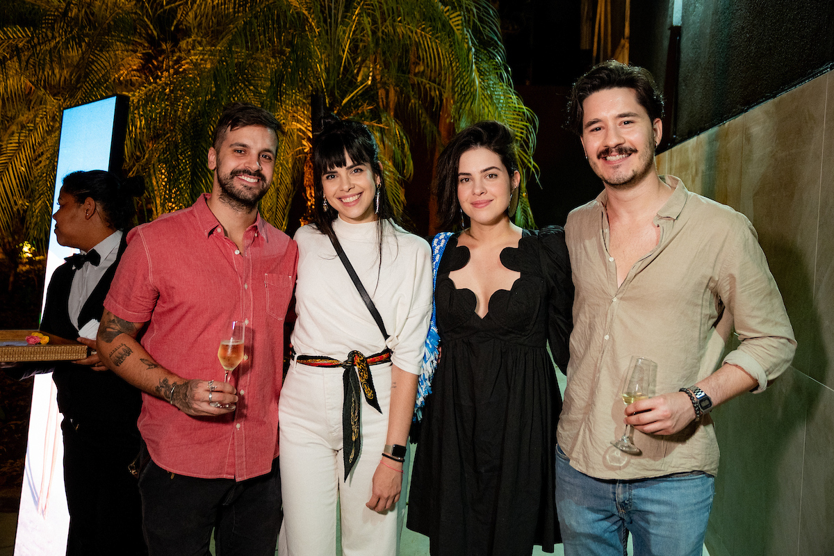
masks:
[[[482,122],[440,154],[452,235],[435,284],[442,357],[426,400],[408,527],[433,556],[528,555],[559,540],[554,474],[573,285],[562,228],[510,220],[520,173],[512,133]]]

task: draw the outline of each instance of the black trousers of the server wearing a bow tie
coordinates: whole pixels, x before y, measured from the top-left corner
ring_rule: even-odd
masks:
[[[61,428],[68,556],[147,554],[137,481],[128,471],[138,453],[138,431],[102,429],[69,418]]]

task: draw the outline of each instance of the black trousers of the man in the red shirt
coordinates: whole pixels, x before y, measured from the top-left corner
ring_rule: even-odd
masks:
[[[143,456],[147,448],[143,447]],[[153,460],[139,473],[145,539],[152,556],[274,556],[284,513],[278,458],[260,477],[194,478]]]

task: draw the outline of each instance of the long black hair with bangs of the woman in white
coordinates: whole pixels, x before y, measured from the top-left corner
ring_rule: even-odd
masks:
[[[377,216],[377,229],[379,232],[379,253],[382,253],[382,237],[385,220],[391,220],[404,228],[404,223],[394,213],[394,208],[388,199],[385,189],[385,176],[382,172],[382,165],[379,163],[379,148],[374,136],[371,135],[364,123],[355,120],[340,120],[338,118],[327,118],[324,120],[324,128],[313,140],[313,225],[319,232],[324,233],[328,238],[334,238],[333,221],[339,216],[335,208],[329,204],[324,208],[324,188],[321,181],[324,174],[334,168],[344,168],[347,159],[344,153],[354,164],[368,164],[374,181],[379,178],[377,191],[379,192],[379,211]],[[380,264],[382,258],[379,258]]]

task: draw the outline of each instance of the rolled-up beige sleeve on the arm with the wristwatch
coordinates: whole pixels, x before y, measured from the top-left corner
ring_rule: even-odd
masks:
[[[791,364],[796,338],[756,230],[744,215],[737,216],[718,292],[733,315],[741,345],[727,353],[724,363],[737,365],[756,378],[755,392],[759,393]]]

